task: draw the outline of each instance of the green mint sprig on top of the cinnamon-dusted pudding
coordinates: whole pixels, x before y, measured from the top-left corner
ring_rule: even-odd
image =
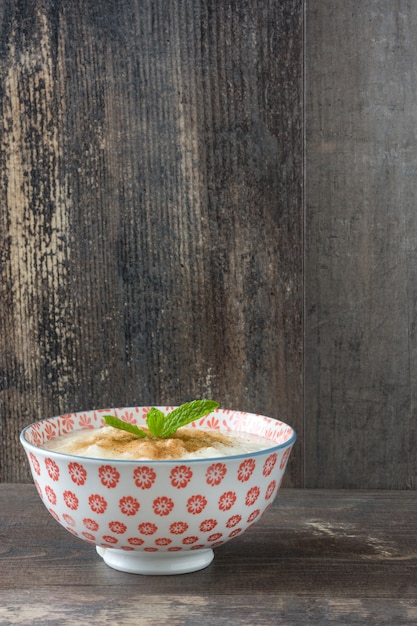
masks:
[[[136,437],[168,439],[172,437],[178,428],[201,419],[219,406],[218,402],[214,402],[214,400],[192,400],[191,402],[181,404],[181,406],[173,409],[167,413],[167,415],[159,409],[152,407],[149,409],[148,415],[146,416],[146,425],[149,428],[150,434],[133,424],[124,422],[114,415],[104,415],[103,419],[108,426],[125,430],[128,433],[136,435]]]

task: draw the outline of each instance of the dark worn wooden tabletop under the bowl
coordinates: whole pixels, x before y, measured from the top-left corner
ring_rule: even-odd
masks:
[[[33,485],[0,485],[0,624],[417,624],[417,494],[283,489],[205,570],[104,564]]]

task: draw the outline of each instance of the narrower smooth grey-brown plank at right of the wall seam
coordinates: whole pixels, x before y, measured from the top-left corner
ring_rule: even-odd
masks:
[[[305,485],[415,489],[417,7],[306,6]]]

